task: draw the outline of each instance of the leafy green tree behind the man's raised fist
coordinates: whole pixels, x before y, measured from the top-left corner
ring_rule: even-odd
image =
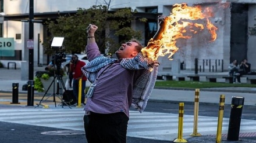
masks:
[[[136,10],[125,8],[112,12],[108,10],[108,6],[94,5],[90,9],[79,8],[74,15],[68,14],[59,16],[56,20],[49,20],[47,27],[51,36],[47,38],[48,42],[43,44],[46,53],[53,52],[52,49],[49,49],[49,39],[53,36],[65,37],[63,47],[65,47],[66,53],[73,54],[84,51],[87,45],[86,27],[89,24],[98,26],[95,36],[101,53],[104,53],[106,46],[113,53],[119,48],[120,43],[131,38],[142,38],[141,31],[133,30],[130,27],[131,21],[136,19],[134,17]],[[145,22],[147,19],[139,20]],[[115,35],[119,41],[116,41],[116,38],[111,35]]]

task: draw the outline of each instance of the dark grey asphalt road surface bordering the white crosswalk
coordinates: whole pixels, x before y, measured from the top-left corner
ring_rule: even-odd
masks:
[[[9,105],[5,105],[3,108],[8,108]],[[13,106],[11,106],[13,107]],[[148,102],[147,112],[163,112],[163,113],[178,113],[179,104],[170,104],[166,102]],[[184,113],[186,115],[194,114],[194,105],[186,104],[184,105]],[[218,116],[218,106],[216,105],[200,105],[199,106],[199,115],[201,116]],[[230,107],[225,107],[224,117],[229,118],[230,116]],[[255,109],[243,108],[242,119],[252,119],[255,118]],[[48,131],[65,131],[63,129],[51,128],[51,127],[42,127],[42,126],[31,126],[25,124],[16,124],[16,123],[6,123],[0,122],[0,142],[1,143],[27,143],[27,142],[77,142],[85,143],[86,138],[83,131],[78,131],[77,134],[68,134],[68,135],[54,135],[54,134],[42,134]],[[127,143],[167,143],[172,141],[161,141],[161,140],[149,140],[145,138],[134,138],[127,137]]]

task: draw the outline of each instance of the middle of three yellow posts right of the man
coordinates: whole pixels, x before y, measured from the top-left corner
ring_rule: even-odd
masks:
[[[195,103],[194,103],[194,130],[190,136],[199,137],[200,133],[197,133],[197,125],[198,125],[198,107],[199,107],[199,92],[200,89],[195,89]]]

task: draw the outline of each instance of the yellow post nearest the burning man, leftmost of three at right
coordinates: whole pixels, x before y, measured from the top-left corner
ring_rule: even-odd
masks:
[[[176,138],[173,142],[187,142],[183,139],[183,115],[184,115],[184,102],[180,102],[179,104],[179,125],[178,125],[178,138]]]

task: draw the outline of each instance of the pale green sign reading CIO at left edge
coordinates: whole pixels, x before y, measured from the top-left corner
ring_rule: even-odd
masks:
[[[0,56],[1,57],[15,56],[14,38],[0,38]]]

